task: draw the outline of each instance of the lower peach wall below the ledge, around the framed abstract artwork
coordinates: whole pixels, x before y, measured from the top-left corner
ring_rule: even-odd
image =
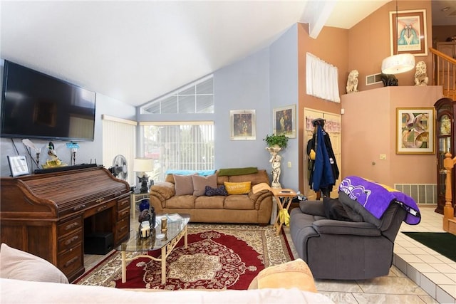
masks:
[[[343,176],[358,175],[392,186],[436,184],[435,154],[396,154],[396,108],[433,108],[437,86],[377,88],[342,96]],[[386,160],[380,160],[386,154]],[[373,164],[375,163],[375,164]]]

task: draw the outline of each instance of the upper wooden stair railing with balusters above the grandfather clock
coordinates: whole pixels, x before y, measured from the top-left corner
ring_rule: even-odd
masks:
[[[442,85],[444,97],[456,100],[456,59],[429,48],[432,53],[432,85]]]

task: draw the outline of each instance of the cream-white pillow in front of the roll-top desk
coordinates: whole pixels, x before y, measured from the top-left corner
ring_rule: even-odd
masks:
[[[53,264],[6,243],[0,247],[0,278],[68,284],[68,278]]]

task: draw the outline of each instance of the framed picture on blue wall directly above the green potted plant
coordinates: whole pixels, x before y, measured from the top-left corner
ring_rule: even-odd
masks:
[[[272,124],[275,135],[296,138],[296,105],[287,105],[272,110]]]

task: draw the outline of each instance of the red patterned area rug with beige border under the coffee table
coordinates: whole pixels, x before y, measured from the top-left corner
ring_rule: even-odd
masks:
[[[160,262],[138,258],[121,281],[120,252],[115,252],[76,281],[80,285],[152,289],[247,289],[267,266],[294,259],[283,234],[272,226],[189,224],[188,248],[183,239],[167,258],[166,283]],[[152,253],[152,252],[150,252]],[[152,255],[160,256],[160,251]],[[130,253],[128,258],[140,253]]]

